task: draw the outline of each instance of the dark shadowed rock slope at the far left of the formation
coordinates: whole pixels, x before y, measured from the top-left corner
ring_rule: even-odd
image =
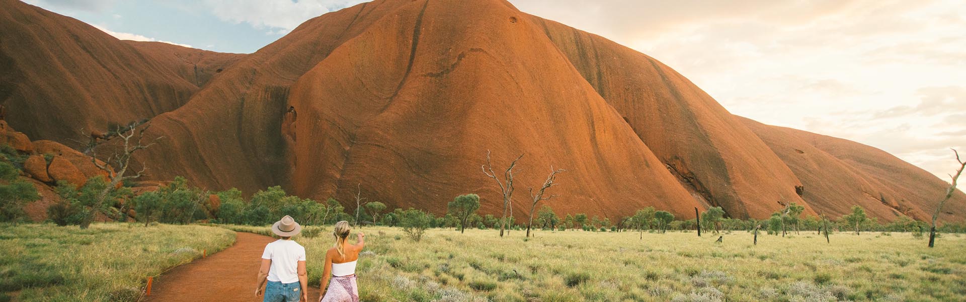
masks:
[[[184,105],[203,84],[180,71],[185,62],[157,57],[185,47],[138,51],[141,43],[122,42],[71,17],[17,0],[0,6],[0,105],[10,125],[33,139],[67,142],[84,134],[81,129],[151,118]],[[210,63],[202,69],[237,56],[196,55]]]

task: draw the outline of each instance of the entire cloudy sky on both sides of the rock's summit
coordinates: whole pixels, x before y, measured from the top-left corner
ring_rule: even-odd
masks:
[[[119,39],[250,53],[357,0],[25,0]],[[949,181],[966,157],[966,1],[510,0],[648,54],[731,113]]]

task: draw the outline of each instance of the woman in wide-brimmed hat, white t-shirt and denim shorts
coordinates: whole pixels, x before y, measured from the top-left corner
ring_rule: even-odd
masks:
[[[255,295],[262,295],[265,302],[308,301],[308,274],[305,272],[305,248],[292,240],[301,226],[291,216],[271,226],[271,231],[282,237],[265,246],[262,268],[258,270],[258,287]]]

